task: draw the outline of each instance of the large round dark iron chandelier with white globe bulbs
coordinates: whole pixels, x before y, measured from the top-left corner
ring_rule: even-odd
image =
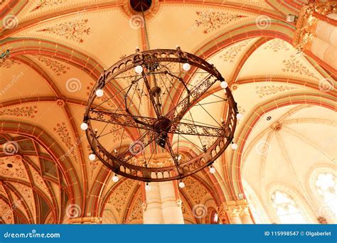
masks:
[[[179,47],[137,49],[102,73],[81,129],[90,160],[102,161],[114,181],[117,174],[181,180],[207,166],[215,173],[212,163],[230,144],[237,148],[232,140],[241,117],[214,65]]]

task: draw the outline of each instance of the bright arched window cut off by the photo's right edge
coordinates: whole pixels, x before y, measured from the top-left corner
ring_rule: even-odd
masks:
[[[336,175],[332,173],[319,173],[315,181],[316,190],[330,208],[334,215],[337,214],[337,185]]]

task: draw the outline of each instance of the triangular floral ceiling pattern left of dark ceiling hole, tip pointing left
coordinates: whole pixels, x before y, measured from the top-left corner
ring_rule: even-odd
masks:
[[[56,26],[43,28],[39,31],[46,33],[54,33],[58,36],[63,36],[67,40],[82,43],[82,36],[90,33],[90,28],[87,28],[87,19],[68,21],[59,23]]]

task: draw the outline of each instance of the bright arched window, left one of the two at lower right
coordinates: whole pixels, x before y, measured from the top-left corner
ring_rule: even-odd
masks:
[[[301,214],[299,205],[291,195],[281,190],[275,190],[272,194],[272,204],[279,216],[282,224],[306,224],[304,216]]]

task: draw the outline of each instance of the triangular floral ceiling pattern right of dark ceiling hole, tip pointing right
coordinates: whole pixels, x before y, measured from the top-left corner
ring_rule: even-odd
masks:
[[[226,24],[236,21],[240,18],[245,18],[247,16],[242,16],[235,13],[223,13],[217,11],[197,11],[198,19],[196,20],[197,26],[203,26],[203,33],[210,33],[218,28],[223,28]]]

